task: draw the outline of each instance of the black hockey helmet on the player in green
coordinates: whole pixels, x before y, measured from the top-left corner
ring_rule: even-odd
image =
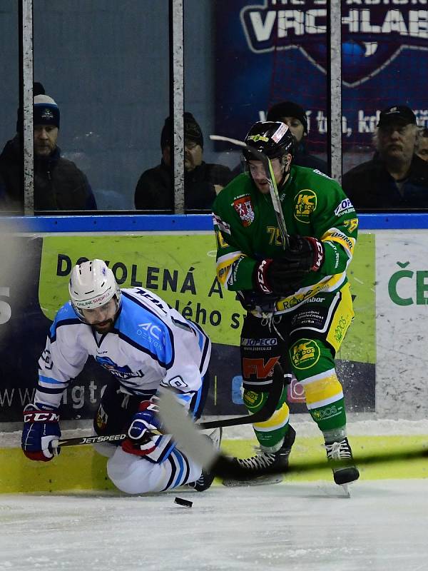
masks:
[[[294,156],[295,138],[290,129],[281,121],[258,121],[245,136],[245,144],[261,151],[268,158],[277,158],[287,154]],[[257,160],[245,148],[243,155],[246,161]]]

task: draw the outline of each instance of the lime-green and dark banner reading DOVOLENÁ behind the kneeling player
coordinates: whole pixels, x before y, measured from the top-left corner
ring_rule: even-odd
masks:
[[[21,419],[37,382],[37,361],[58,308],[68,300],[71,268],[85,259],[101,258],[121,287],[153,290],[185,318],[210,335],[211,387],[205,414],[244,414],[240,376],[240,328],[244,310],[235,295],[222,290],[215,277],[212,233],[143,236],[71,236],[19,238],[25,279],[6,283],[1,277],[0,422]],[[6,280],[6,281],[5,281]],[[362,234],[350,271],[355,295],[355,323],[338,358],[338,373],[354,412],[374,410],[374,235]],[[109,373],[92,358],[65,395],[63,419],[91,418]],[[292,412],[304,412],[302,389],[292,383]]]

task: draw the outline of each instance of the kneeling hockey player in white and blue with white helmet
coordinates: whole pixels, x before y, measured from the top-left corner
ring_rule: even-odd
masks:
[[[113,378],[94,418],[98,435],[127,432],[121,445],[101,445],[110,456],[108,477],[123,492],[161,492],[180,485],[203,491],[213,476],[162,434],[156,392],[174,391],[193,418],[208,392],[205,372],[210,340],[203,330],[144,288],[119,289],[101,260],[71,272],[69,293],[51,325],[39,360],[34,403],[24,409],[22,448],[31,460],[49,461],[59,452],[61,396],[89,355]],[[220,442],[219,431],[211,436]]]

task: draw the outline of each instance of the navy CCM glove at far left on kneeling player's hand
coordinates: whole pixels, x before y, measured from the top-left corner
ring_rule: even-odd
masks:
[[[49,462],[60,453],[53,448],[53,440],[61,438],[58,410],[46,405],[26,405],[24,408],[24,429],[21,448],[30,460]]]

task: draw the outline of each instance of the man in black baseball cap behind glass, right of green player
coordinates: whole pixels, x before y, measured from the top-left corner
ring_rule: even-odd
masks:
[[[379,116],[371,161],[345,173],[342,187],[359,208],[428,208],[428,163],[416,154],[419,131],[407,106],[392,106]]]

